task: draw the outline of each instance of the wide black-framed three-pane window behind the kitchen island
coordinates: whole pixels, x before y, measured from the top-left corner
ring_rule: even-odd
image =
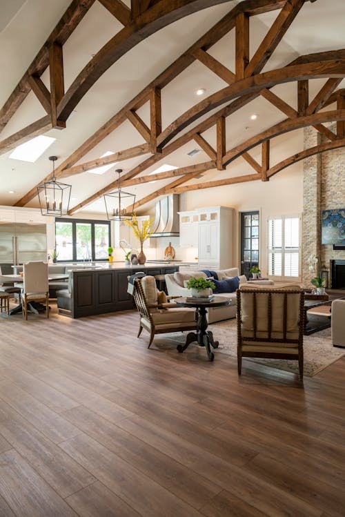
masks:
[[[110,222],[59,219],[55,242],[58,262],[108,260]]]

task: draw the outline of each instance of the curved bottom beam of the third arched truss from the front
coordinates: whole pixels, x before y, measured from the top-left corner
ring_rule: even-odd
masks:
[[[265,142],[265,140],[275,138],[279,135],[284,135],[284,133],[288,133],[299,128],[313,126],[313,124],[333,122],[338,120],[345,120],[345,109],[316,113],[313,115],[308,115],[308,117],[298,117],[297,119],[292,120],[286,119],[282,122],[279,122],[279,124],[275,124],[275,126],[262,131],[262,133],[259,133],[259,135],[255,135],[255,137],[251,137],[250,139],[246,140],[246,142],[242,142],[242,144],[239,144],[238,146],[229,150],[228,153],[226,153],[224,156],[223,164],[230,164],[230,162],[233,162],[244,152],[259,144],[262,144],[262,142]]]

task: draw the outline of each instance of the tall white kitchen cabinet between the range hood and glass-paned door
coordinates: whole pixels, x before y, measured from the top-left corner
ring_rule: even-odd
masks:
[[[199,268],[233,267],[233,208],[212,206],[197,212]]]

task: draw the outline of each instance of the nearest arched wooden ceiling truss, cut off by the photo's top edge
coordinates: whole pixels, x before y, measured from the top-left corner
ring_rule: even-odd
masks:
[[[108,10],[117,16],[121,23],[127,23],[97,52],[95,57],[81,70],[68,91],[64,92],[63,43],[67,41],[95,2],[95,0],[73,0],[1,109],[0,128],[6,126],[30,90],[34,91],[43,108],[51,115],[52,127],[63,128],[70,113],[83,95],[128,50],[157,30],[188,16],[188,14],[230,1],[232,0],[158,0],[154,2],[133,0],[132,12],[129,17],[125,16],[126,6],[121,6],[119,0],[113,0],[111,3],[104,2]],[[146,10],[144,10],[144,4],[147,6]],[[50,92],[40,79],[48,66],[50,67]]]

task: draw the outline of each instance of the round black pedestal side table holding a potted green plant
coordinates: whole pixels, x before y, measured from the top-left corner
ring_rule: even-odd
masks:
[[[186,344],[178,344],[177,351],[180,353],[184,352],[190,343],[196,341],[199,346],[206,348],[208,359],[213,361],[215,354],[211,351],[210,347],[216,349],[219,345],[219,342],[213,340],[213,333],[211,331],[206,330],[208,326],[206,309],[208,307],[223,307],[230,305],[231,300],[227,300],[222,296],[215,296],[212,302],[201,302],[198,301],[197,298],[195,298],[195,300],[187,300],[186,297],[181,297],[176,298],[175,303],[181,307],[195,307],[195,309],[197,309],[197,332],[188,333]]]

